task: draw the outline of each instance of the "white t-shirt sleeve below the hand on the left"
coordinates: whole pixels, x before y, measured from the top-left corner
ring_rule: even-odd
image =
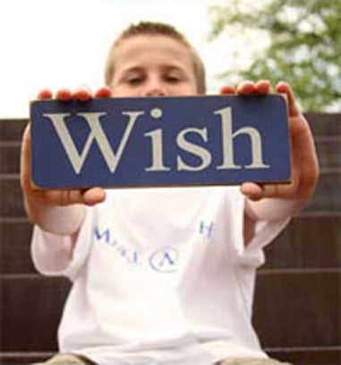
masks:
[[[87,208],[75,241],[71,236],[61,236],[34,227],[31,256],[40,274],[66,276],[74,280],[90,252],[92,215],[91,209]]]

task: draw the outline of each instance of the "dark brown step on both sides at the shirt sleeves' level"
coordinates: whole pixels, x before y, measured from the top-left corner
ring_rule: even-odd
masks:
[[[265,250],[260,270],[341,267],[340,216],[298,216]],[[32,224],[0,219],[0,274],[36,273],[30,259]]]

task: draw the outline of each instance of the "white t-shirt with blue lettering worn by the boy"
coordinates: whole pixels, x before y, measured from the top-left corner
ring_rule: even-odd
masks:
[[[73,251],[35,228],[38,270],[73,282],[60,351],[111,365],[266,357],[251,326],[255,272],[287,221],[257,223],[245,248],[243,209],[238,187],[117,189],[88,208]]]

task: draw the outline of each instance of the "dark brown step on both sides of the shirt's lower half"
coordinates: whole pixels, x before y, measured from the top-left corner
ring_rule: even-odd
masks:
[[[340,269],[260,273],[254,326],[263,347],[340,345],[340,279]],[[55,351],[69,287],[63,278],[2,274],[1,351]]]

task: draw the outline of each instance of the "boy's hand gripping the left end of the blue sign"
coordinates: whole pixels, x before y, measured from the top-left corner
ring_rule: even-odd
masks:
[[[99,89],[94,96],[97,98],[108,98],[111,95],[112,92],[110,89],[102,88]],[[52,92],[48,90],[40,91],[38,93],[38,100],[49,100],[52,99],[52,97]],[[91,92],[85,89],[80,89],[75,92],[60,90],[55,94],[55,99],[64,101],[75,99],[86,102],[92,97],[93,95]],[[91,187],[86,190],[41,190],[32,187],[30,154],[31,142],[29,123],[25,128],[21,142],[21,189],[24,196],[26,211],[33,222],[40,224],[40,221],[43,219],[41,218],[41,215],[52,207],[66,207],[72,204],[94,205],[105,200],[106,193],[101,187]]]

